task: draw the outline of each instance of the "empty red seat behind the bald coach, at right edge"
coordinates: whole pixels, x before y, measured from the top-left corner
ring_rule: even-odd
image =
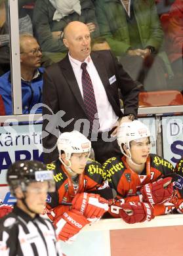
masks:
[[[150,91],[139,94],[139,106],[176,106],[183,105],[183,96],[180,91]]]

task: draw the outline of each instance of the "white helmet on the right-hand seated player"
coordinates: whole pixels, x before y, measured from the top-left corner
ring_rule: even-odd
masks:
[[[121,144],[125,144],[127,149],[130,149],[130,142],[142,138],[150,137],[150,130],[144,123],[134,120],[127,123],[121,123],[117,131],[117,143],[121,152],[125,154]],[[125,156],[127,156],[125,154]]]

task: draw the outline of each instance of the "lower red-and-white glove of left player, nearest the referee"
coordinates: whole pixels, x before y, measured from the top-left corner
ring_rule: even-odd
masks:
[[[71,209],[65,212],[61,217],[54,221],[56,235],[58,239],[67,241],[75,236],[89,221],[79,213],[79,211]]]

